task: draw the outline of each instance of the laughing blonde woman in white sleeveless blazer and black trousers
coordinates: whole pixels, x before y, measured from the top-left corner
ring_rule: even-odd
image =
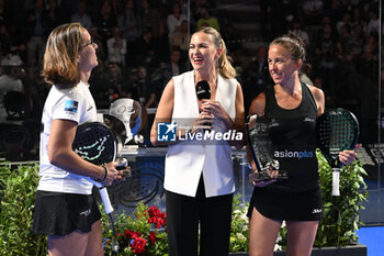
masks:
[[[221,34],[212,27],[190,42],[193,70],[165,88],[150,133],[168,145],[165,189],[169,256],[228,255],[233,193],[231,146],[244,146],[244,100]],[[199,99],[206,81],[211,98]],[[200,246],[199,241],[200,226]]]

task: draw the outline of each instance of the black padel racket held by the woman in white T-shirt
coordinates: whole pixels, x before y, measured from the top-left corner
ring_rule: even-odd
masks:
[[[121,140],[117,137],[118,135],[103,123],[83,123],[77,127],[72,149],[83,159],[94,165],[102,165],[116,160],[117,153],[122,149],[122,145],[118,144]],[[124,165],[125,162],[122,167],[124,167]],[[113,207],[106,187],[91,178],[88,178],[88,180],[99,189],[104,211],[108,214],[110,226],[114,235],[112,249],[118,252],[118,243],[115,241],[117,236],[112,216]]]

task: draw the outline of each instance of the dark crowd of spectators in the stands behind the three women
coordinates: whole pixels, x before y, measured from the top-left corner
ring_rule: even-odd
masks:
[[[99,46],[99,66],[89,81],[99,109],[108,109],[118,98],[156,108],[169,79],[190,69],[189,35],[210,25],[226,42],[248,110],[271,82],[268,43],[291,30],[307,46],[302,80],[325,91],[328,108],[354,112],[362,126],[361,141],[374,142],[382,35],[379,4],[379,0],[0,0],[4,113],[0,152],[18,147],[21,132],[10,134],[19,129],[29,132],[23,156],[37,156],[39,116],[49,90],[39,75],[45,43],[54,27],[67,22],[80,22]],[[255,10],[248,21],[241,12],[230,14],[241,5]],[[242,30],[239,21],[248,22],[252,33]],[[10,90],[20,93],[7,100],[3,94]],[[22,113],[7,112],[7,104],[10,109],[19,104]],[[149,119],[146,132],[150,125]]]

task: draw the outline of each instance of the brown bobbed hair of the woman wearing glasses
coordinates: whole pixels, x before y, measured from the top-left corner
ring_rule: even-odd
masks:
[[[75,22],[59,25],[49,34],[42,71],[46,82],[70,88],[80,81],[77,57],[83,31]]]

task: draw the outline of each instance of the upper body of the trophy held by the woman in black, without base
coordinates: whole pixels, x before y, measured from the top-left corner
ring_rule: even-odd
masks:
[[[273,160],[272,141],[270,138],[270,121],[268,118],[252,114],[246,122],[249,148],[259,171]]]

